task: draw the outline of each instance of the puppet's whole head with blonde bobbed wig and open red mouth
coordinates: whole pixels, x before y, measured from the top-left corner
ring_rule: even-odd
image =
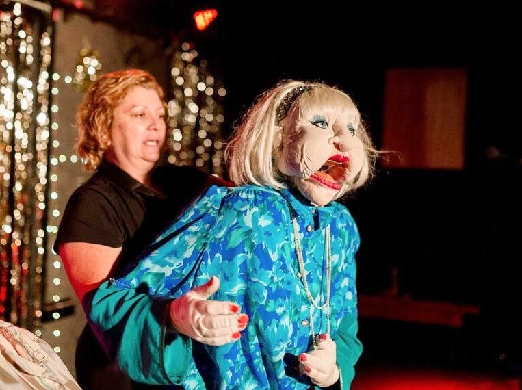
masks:
[[[290,80],[259,96],[226,158],[237,184],[293,186],[324,206],[369,179],[376,150],[350,96],[324,83]]]

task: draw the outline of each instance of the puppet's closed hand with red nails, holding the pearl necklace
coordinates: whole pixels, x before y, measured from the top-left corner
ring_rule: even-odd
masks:
[[[336,346],[328,335],[318,335],[316,349],[299,355],[299,372],[309,376],[314,385],[328,387],[339,380]]]

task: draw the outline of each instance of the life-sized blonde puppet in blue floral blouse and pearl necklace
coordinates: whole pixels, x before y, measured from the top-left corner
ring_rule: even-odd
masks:
[[[362,352],[360,240],[336,200],[371,177],[376,155],[337,88],[285,81],[261,94],[226,149],[237,187],[210,187],[126,276],[96,291],[90,322],[118,367],[185,389],[350,389]],[[220,288],[211,299],[237,302],[248,325],[222,346],[177,337],[187,354],[171,356],[169,332],[183,323],[156,335],[154,302],[212,276]]]

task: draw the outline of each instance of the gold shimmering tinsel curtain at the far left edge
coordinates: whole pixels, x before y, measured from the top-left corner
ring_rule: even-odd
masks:
[[[33,31],[21,3],[1,12],[0,317],[36,334],[47,244],[50,66],[50,27]]]

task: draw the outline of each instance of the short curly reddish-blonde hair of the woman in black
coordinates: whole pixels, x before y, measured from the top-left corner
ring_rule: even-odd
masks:
[[[146,70],[126,69],[105,73],[94,81],[77,109],[77,142],[75,150],[83,160],[83,168],[96,170],[111,140],[114,108],[131,88],[141,86],[153,89],[164,103],[163,88]]]

